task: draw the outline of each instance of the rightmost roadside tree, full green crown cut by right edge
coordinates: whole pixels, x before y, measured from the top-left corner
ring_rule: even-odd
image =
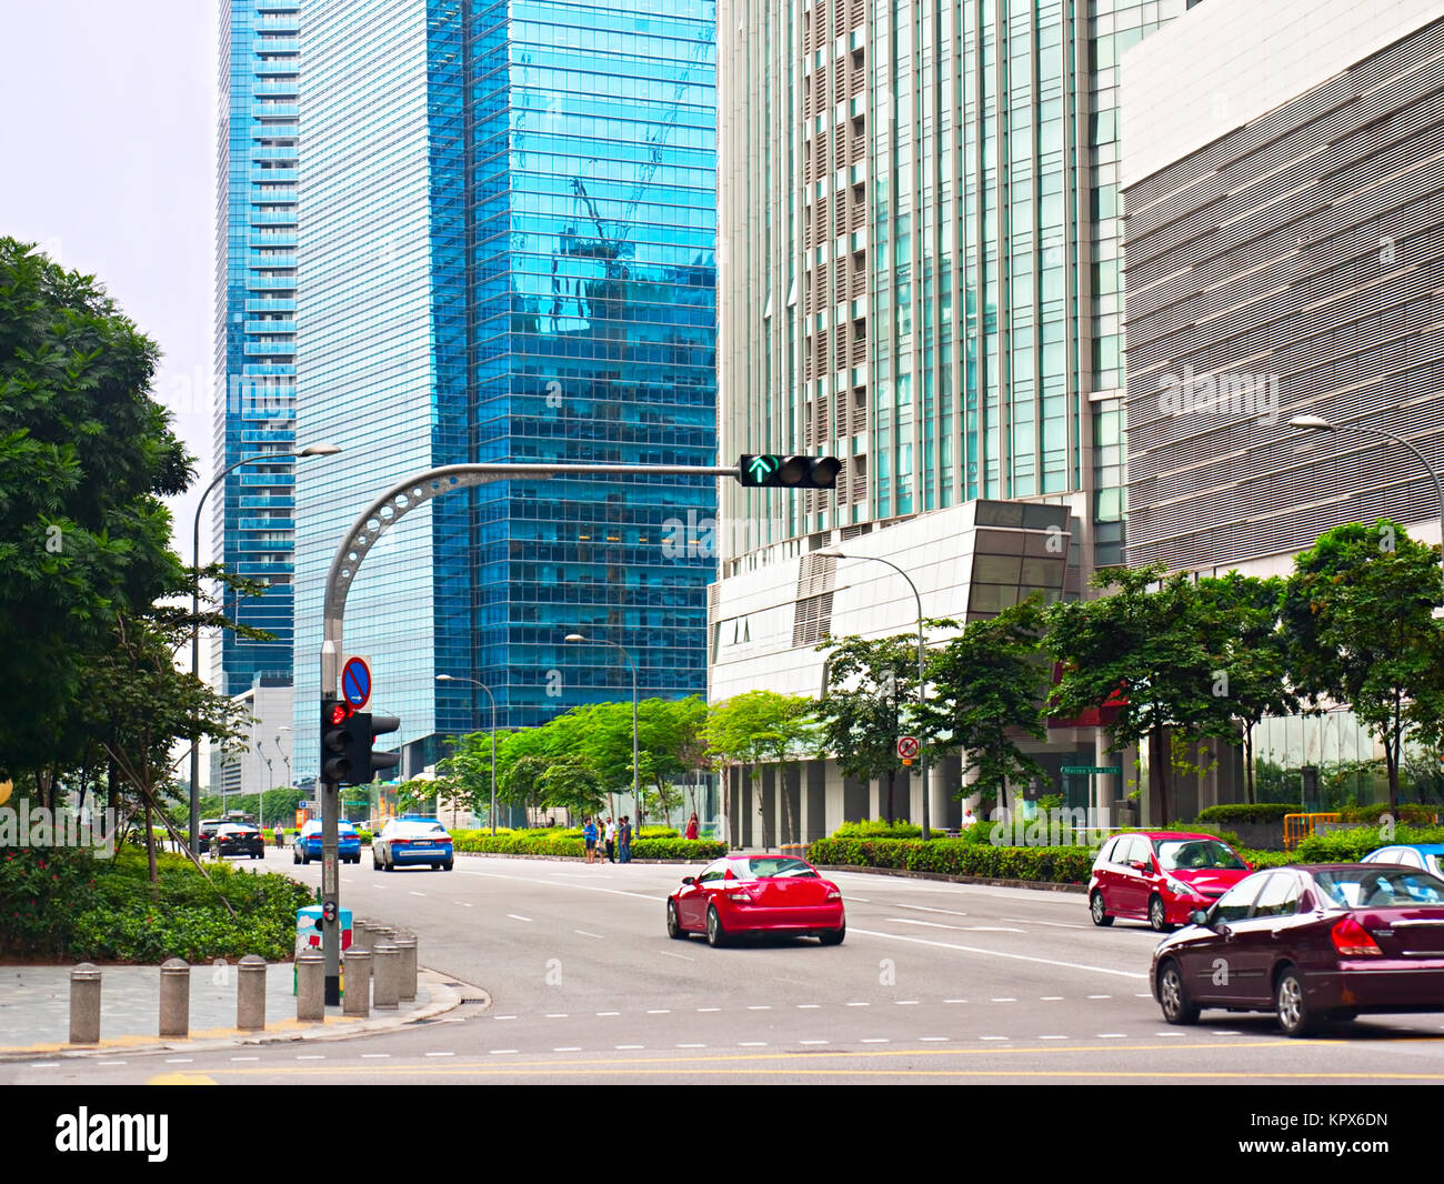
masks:
[[[1284,628],[1294,684],[1313,705],[1347,705],[1383,746],[1389,809],[1411,738],[1444,721],[1444,622],[1432,617],[1440,562],[1398,523],[1347,523],[1294,560]]]

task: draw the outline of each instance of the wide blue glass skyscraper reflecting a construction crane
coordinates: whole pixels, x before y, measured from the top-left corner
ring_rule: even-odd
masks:
[[[305,7],[296,771],[321,601],[387,487],[466,461],[712,465],[715,6]],[[406,771],[440,736],[705,686],[710,478],[495,482],[425,502],[347,602]],[[567,645],[580,632],[596,644]],[[456,682],[438,683],[438,674]]]

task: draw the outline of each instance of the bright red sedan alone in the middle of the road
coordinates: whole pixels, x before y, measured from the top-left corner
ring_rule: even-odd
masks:
[[[838,946],[848,933],[838,885],[790,855],[728,855],[667,897],[667,936],[705,933],[725,946],[742,933],[812,934]]]

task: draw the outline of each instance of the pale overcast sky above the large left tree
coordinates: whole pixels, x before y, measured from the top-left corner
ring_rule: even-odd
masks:
[[[155,394],[211,472],[214,0],[0,0],[0,235],[94,274],[163,352]],[[175,498],[189,562],[196,498]],[[209,515],[206,515],[209,517]],[[208,553],[202,528],[201,554]]]

